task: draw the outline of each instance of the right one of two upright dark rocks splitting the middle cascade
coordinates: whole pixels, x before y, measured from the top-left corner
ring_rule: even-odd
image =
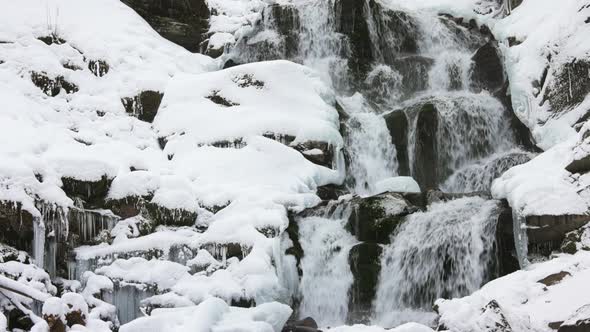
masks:
[[[414,178],[423,190],[438,185],[438,113],[432,103],[422,106],[416,125]]]

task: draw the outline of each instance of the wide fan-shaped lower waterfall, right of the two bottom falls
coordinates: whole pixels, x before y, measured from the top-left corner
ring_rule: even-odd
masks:
[[[410,215],[381,258],[375,322],[395,326],[422,314],[431,323],[436,299],[468,295],[487,281],[497,212],[495,201],[466,197]]]

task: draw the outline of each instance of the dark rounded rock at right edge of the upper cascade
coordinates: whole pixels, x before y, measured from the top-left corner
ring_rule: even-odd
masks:
[[[490,92],[497,91],[504,85],[504,66],[494,42],[480,47],[472,57],[473,70],[471,80],[474,88]]]

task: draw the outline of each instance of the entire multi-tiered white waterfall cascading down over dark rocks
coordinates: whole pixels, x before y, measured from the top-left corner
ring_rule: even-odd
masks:
[[[472,57],[487,42],[482,34],[430,12],[389,8],[379,1],[293,0],[285,6],[297,38],[269,14],[262,30],[276,34],[258,28],[249,42],[269,38],[287,45],[284,58],[317,70],[337,91],[344,115],[346,185],[353,194],[375,194],[379,181],[404,172],[384,112],[406,115],[406,169],[415,177],[417,170],[424,173],[420,168],[435,169],[436,187],[489,191],[494,178],[528,158],[515,150],[504,105],[489,92],[472,89]],[[241,51],[238,47],[234,53]],[[431,127],[421,127],[425,105],[436,117]],[[427,145],[421,141],[424,133],[434,137],[430,159],[418,149]],[[356,240],[345,229],[348,204],[331,202],[326,211],[334,204],[338,209],[333,213],[297,220],[304,251],[298,312],[320,325],[350,318],[348,256]],[[406,217],[382,255],[374,322],[390,327],[403,320],[427,321],[436,298],[480,287],[493,265],[495,212],[496,202],[471,197],[436,203]]]

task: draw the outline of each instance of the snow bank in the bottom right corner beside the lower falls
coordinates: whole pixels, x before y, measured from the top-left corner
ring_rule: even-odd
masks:
[[[562,271],[571,276],[553,286],[538,282]],[[587,304],[589,277],[590,252],[560,255],[491,281],[470,296],[438,300],[440,323],[457,332],[482,330],[481,308],[496,300],[514,331],[549,332],[549,323],[565,321]]]

